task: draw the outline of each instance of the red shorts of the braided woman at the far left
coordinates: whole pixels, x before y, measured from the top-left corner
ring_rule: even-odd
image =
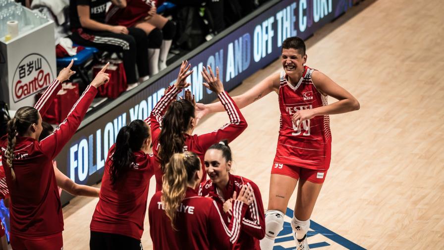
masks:
[[[42,237],[18,237],[11,234],[10,243],[13,250],[63,250],[61,232]]]

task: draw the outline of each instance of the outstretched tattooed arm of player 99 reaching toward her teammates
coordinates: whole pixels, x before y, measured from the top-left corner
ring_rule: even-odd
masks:
[[[205,68],[204,68],[205,70]],[[202,75],[204,75],[204,71],[202,71]],[[280,75],[279,72],[273,73],[272,75],[268,76],[261,82],[259,82],[256,86],[248,90],[247,92],[234,96],[233,100],[239,107],[239,109],[242,109],[243,107],[246,107],[253,102],[261,99],[262,97],[268,95],[272,91],[276,91],[279,88],[279,80]],[[223,112],[224,108],[223,105],[220,102],[212,103],[212,104],[201,104],[198,103],[196,106],[196,119],[200,120],[204,116],[216,113],[216,112]]]

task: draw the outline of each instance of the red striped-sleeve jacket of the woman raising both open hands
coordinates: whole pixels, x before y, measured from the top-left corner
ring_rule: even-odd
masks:
[[[154,107],[150,116],[150,126],[151,126],[151,134],[153,138],[153,153],[157,157],[159,152],[159,135],[161,130],[161,123],[163,119],[163,115],[165,114],[169,104],[176,99],[176,95],[181,90],[176,87],[171,87],[167,90],[166,94],[159,100],[159,102]],[[219,100],[223,104],[223,108],[225,109],[230,122],[223,125],[221,128],[206,134],[201,135],[188,135],[185,134],[185,145],[183,147],[183,151],[192,151],[196,153],[202,163],[203,175],[202,182],[204,182],[207,178],[205,174],[205,165],[204,165],[204,156],[207,149],[223,139],[231,142],[234,140],[239,134],[241,134],[245,128],[247,128],[247,122],[245,118],[240,113],[239,108],[236,103],[234,103],[233,99],[228,95],[227,92],[222,92],[218,95]],[[162,176],[163,173],[160,171],[156,171],[156,190],[159,191],[162,189]]]

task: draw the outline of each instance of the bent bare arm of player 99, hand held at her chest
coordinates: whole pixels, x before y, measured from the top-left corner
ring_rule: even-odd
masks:
[[[321,94],[331,96],[338,101],[315,109],[296,112],[293,115],[293,123],[296,126],[316,116],[336,115],[359,110],[360,105],[358,100],[324,73],[318,70],[313,71],[312,81]]]

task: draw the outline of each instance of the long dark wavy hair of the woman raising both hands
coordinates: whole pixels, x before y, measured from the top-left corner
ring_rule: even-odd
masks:
[[[185,138],[183,134],[188,130],[191,118],[194,118],[195,108],[191,102],[181,99],[174,101],[169,106],[159,135],[159,161],[162,172],[174,153],[183,152]]]

